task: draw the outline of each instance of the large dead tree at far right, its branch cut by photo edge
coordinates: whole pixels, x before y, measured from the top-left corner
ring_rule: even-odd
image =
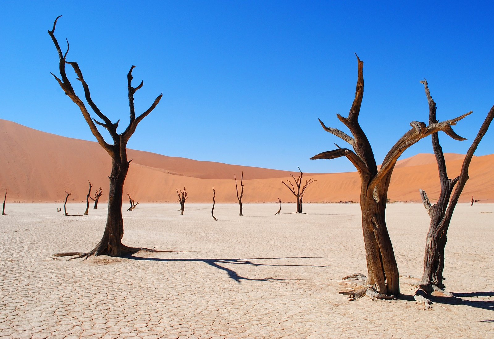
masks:
[[[436,102],[432,99],[429,88],[426,81],[421,82],[425,87],[425,94],[429,103],[429,124],[437,124],[436,120]],[[427,233],[425,255],[424,255],[424,273],[420,281],[420,288],[426,293],[433,291],[433,286],[440,289],[444,288],[443,269],[444,269],[444,249],[447,242],[448,227],[453,216],[454,208],[458,202],[459,196],[466,181],[468,180],[468,167],[473,157],[473,153],[477,149],[480,141],[484,137],[494,118],[494,106],[491,108],[487,117],[480,127],[479,133],[475,137],[472,145],[468,149],[463,165],[461,166],[460,174],[450,179],[448,178],[448,172],[446,169],[446,162],[443,155],[443,149],[439,143],[439,136],[437,133],[432,134],[432,147],[434,149],[434,155],[436,156],[436,162],[439,169],[439,180],[441,185],[441,193],[437,203],[431,206],[429,198],[424,190],[420,190],[422,202],[425,209],[429,213],[431,218],[429,231]],[[453,196],[453,188],[456,185]],[[451,200],[450,200],[451,197]],[[473,205],[473,196],[472,196]]]

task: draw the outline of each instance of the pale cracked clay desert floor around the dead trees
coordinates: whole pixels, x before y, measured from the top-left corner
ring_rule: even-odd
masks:
[[[494,337],[494,205],[459,204],[446,247],[447,290],[413,301],[429,217],[389,204],[400,274],[397,300],[348,301],[345,275],[367,274],[357,204],[139,204],[124,244],[170,253],[52,258],[92,249],[106,206],[82,217],[62,204],[7,204],[0,216],[0,338]],[[85,204],[68,205],[83,213]]]

